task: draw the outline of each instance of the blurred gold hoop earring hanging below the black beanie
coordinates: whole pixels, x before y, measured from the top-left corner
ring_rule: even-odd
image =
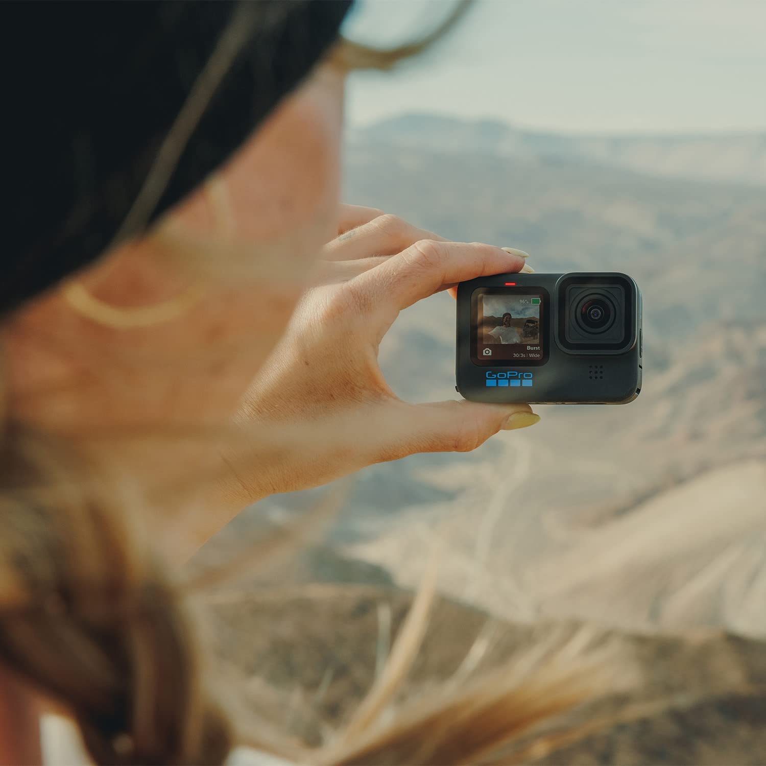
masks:
[[[134,309],[110,306],[109,303],[91,295],[80,282],[70,282],[61,292],[70,308],[81,316],[111,329],[128,330],[152,327],[184,316],[200,300],[203,289],[200,284],[195,284],[172,300]]]

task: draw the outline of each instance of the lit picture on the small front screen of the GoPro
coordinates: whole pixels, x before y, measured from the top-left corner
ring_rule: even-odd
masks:
[[[485,293],[479,296],[478,308],[476,355],[479,358],[487,362],[542,359],[542,296]]]

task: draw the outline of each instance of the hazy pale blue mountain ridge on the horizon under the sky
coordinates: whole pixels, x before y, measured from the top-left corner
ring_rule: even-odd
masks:
[[[667,178],[766,185],[766,133],[565,135],[488,119],[404,114],[357,129],[352,139],[454,154],[574,159]]]

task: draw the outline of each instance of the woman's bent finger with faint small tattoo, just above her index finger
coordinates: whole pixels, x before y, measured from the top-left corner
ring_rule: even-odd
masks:
[[[422,239],[444,241],[442,237],[402,221],[395,215],[378,215],[349,229],[322,248],[326,260],[356,260],[378,255],[394,255]]]

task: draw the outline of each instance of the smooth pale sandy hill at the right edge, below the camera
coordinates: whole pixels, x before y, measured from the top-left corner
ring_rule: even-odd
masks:
[[[542,610],[596,620],[606,611],[637,628],[726,624],[766,635],[764,502],[761,460],[667,489],[570,551],[543,557],[530,573]]]

